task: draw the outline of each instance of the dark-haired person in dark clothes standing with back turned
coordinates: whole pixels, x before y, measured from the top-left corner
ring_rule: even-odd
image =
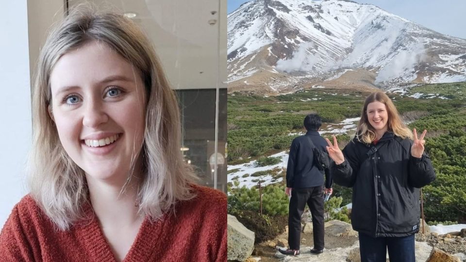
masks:
[[[310,114],[304,118],[307,132],[293,140],[286,168],[285,193],[290,198],[288,213],[289,249],[279,251],[285,255],[300,254],[301,215],[306,204],[312,215],[314,248],[312,253],[320,254],[324,249],[324,175],[325,193],[332,193],[332,175],[329,164],[322,168],[317,155],[324,153],[327,157],[327,143],[318,130],[322,125],[319,115]],[[328,160],[327,160],[328,161]]]

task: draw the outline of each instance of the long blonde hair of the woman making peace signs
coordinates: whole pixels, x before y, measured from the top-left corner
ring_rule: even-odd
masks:
[[[381,102],[385,105],[388,115],[388,129],[387,131],[393,132],[395,135],[405,139],[413,139],[413,133],[406,127],[401,121],[401,117],[398,114],[398,110],[393,104],[392,100],[383,92],[377,91],[371,93],[364,102],[363,111],[361,113],[361,119],[359,120],[356,128],[356,138],[366,144],[372,143],[376,138],[374,128],[370,125],[369,119],[367,118],[367,105],[372,102]]]

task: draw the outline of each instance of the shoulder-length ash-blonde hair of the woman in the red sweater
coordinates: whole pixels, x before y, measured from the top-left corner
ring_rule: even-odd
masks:
[[[160,218],[176,202],[194,197],[190,185],[198,180],[183,161],[178,102],[148,37],[123,15],[78,6],[55,27],[42,48],[32,96],[29,187],[61,230],[84,218],[89,192],[84,171],[67,155],[48,113],[50,73],[63,55],[90,41],[115,50],[137,69],[145,84],[146,130],[141,149],[145,176],[138,186],[139,212],[152,221]]]

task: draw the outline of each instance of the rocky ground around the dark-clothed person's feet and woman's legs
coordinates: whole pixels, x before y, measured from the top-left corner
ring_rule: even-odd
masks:
[[[318,261],[318,262],[356,262],[359,258],[359,241],[357,232],[351,229],[350,224],[341,221],[330,221],[325,224],[325,250],[323,254],[314,255],[309,252],[313,245],[312,227],[310,224],[303,228],[301,233],[301,255],[284,256],[278,248],[288,246],[288,231],[279,235],[272,241],[266,241],[254,246],[252,256],[248,262],[277,262],[277,261]],[[464,235],[464,233],[463,233]],[[434,249],[436,248],[436,249]],[[466,236],[460,232],[438,235],[436,233],[416,234],[416,261],[425,262],[433,250],[439,249],[453,254],[460,261],[466,262]],[[388,259],[387,259],[388,261]],[[440,261],[444,261],[443,259]]]

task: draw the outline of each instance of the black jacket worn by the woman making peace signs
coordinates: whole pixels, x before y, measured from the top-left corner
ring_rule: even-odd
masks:
[[[333,164],[335,183],[353,188],[351,224],[372,237],[419,231],[419,188],[435,180],[429,156],[411,156],[412,141],[385,132],[376,146],[354,138]]]

